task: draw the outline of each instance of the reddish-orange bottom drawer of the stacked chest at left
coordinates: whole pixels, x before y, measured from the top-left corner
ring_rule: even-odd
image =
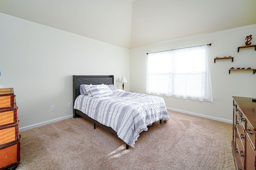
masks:
[[[20,162],[20,142],[0,147],[0,169],[7,168]]]

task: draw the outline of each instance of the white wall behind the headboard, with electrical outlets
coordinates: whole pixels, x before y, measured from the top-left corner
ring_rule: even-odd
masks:
[[[129,49],[3,13],[0,25],[0,88],[14,88],[20,128],[72,115],[72,75],[114,75],[120,89],[125,76],[129,90]]]

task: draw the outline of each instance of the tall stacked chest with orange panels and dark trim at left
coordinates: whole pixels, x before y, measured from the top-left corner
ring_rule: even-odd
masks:
[[[0,170],[20,163],[20,138],[13,88],[0,88]]]

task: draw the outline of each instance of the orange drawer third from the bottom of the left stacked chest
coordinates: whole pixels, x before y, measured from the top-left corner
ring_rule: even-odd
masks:
[[[17,123],[17,109],[0,110],[0,127]]]

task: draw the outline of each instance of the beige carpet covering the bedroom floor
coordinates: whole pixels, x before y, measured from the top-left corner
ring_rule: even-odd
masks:
[[[118,137],[84,118],[22,131],[17,170],[235,170],[232,124],[168,111],[126,150]]]

